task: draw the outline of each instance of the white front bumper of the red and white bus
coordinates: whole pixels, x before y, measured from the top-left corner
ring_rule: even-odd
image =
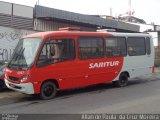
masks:
[[[22,92],[25,94],[34,94],[34,88],[32,83],[16,84],[16,83],[9,82],[8,80],[5,79],[5,84],[9,89]]]

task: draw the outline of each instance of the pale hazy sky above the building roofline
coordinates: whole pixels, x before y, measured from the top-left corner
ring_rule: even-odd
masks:
[[[129,10],[129,0],[2,0],[32,6],[39,5],[88,15],[124,15]],[[160,0],[131,0],[134,16],[160,25]]]

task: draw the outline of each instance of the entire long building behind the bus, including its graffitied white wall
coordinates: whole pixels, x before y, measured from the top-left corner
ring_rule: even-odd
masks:
[[[139,26],[97,16],[48,8],[18,5],[0,1],[0,60],[9,60],[18,40],[38,31],[55,31],[76,26],[85,31],[115,29],[119,32],[139,32]]]

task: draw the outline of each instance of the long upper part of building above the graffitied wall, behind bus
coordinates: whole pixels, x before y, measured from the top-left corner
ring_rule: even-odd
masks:
[[[122,32],[138,32],[139,26],[103,19],[96,16],[48,8],[0,2],[0,25],[38,31],[58,30],[60,27],[79,26],[82,30],[96,31],[97,28],[116,29]]]

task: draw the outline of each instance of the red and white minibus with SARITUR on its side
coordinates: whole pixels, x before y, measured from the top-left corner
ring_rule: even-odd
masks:
[[[5,69],[5,83],[45,100],[60,90],[101,83],[124,87],[130,78],[153,72],[149,34],[63,28],[20,39]]]

